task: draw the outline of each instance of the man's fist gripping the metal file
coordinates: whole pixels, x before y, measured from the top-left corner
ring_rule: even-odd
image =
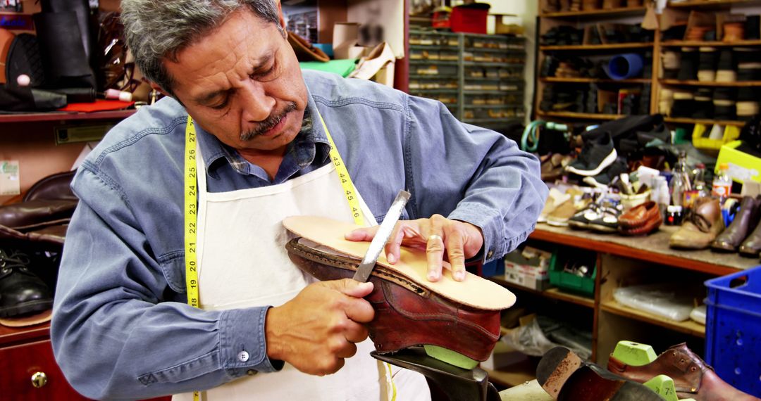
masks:
[[[323,376],[343,367],[368,338],[362,325],[375,311],[362,299],[372,283],[353,279],[323,281],[305,287],[291,301],[269,308],[265,322],[267,356],[307,374]]]

